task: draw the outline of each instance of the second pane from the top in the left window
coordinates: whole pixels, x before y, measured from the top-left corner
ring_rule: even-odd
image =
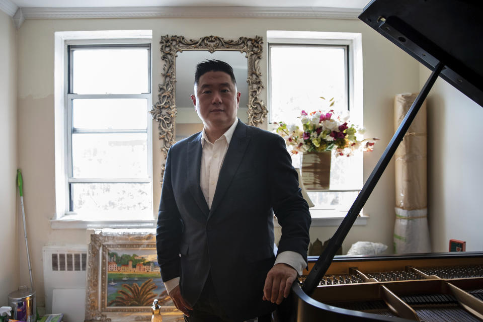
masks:
[[[145,99],[72,100],[72,126],[76,129],[145,129]]]

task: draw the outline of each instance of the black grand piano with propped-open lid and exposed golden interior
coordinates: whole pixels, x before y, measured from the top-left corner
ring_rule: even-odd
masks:
[[[483,1],[373,0],[359,19],[432,73],[328,247],[309,259],[276,320],[483,321],[483,253],[335,257],[436,79],[483,106]]]

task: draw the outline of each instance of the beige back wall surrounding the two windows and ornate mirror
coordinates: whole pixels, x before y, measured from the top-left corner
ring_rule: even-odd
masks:
[[[162,65],[158,42],[162,35],[183,35],[198,38],[218,35],[227,39],[239,36],[263,36],[267,30],[305,30],[361,32],[364,66],[364,125],[368,136],[379,137],[373,153],[364,159],[364,178],[367,178],[390,140],[392,100],[396,93],[419,89],[418,63],[382,36],[357,20],[329,19],[77,19],[27,20],[18,31],[19,37],[19,166],[26,178],[28,202],[26,211],[32,218],[29,226],[32,245],[32,265],[38,289],[38,304],[43,305],[42,246],[85,244],[87,232],[82,229],[52,230],[49,219],[55,213],[54,200],[54,32],[73,30],[152,29],[153,31],[153,88],[160,83]],[[263,82],[267,84],[266,48],[261,62]],[[292,81],[287,79],[287,81]],[[296,75],[293,75],[296,82]],[[153,93],[153,99],[156,99]],[[266,91],[262,99],[267,102]],[[155,129],[156,127],[153,127]],[[156,131],[154,131],[154,137]],[[156,144],[156,140],[154,140]],[[159,153],[155,151],[154,203],[159,199]],[[364,209],[371,218],[366,226],[354,227],[344,250],[357,240],[381,241],[392,245],[394,224],[394,175],[390,164]],[[156,207],[155,207],[156,208]],[[155,214],[153,214],[155,215]],[[313,227],[315,238],[329,238],[336,227]],[[277,234],[280,232],[277,230]],[[20,240],[20,236],[18,237]],[[23,259],[23,257],[21,257]],[[22,263],[22,265],[25,263]],[[22,266],[21,265],[21,266]],[[20,266],[20,267],[21,267]],[[21,273],[28,282],[28,274]]]

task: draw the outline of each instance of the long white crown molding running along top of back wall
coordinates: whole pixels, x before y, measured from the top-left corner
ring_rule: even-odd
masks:
[[[9,0],[0,0],[9,1]],[[332,18],[357,19],[361,9],[325,7],[22,8],[25,19],[69,18]]]

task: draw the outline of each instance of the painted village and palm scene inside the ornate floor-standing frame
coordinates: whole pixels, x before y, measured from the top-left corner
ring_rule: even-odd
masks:
[[[107,306],[173,305],[153,250],[109,250],[107,278]]]

